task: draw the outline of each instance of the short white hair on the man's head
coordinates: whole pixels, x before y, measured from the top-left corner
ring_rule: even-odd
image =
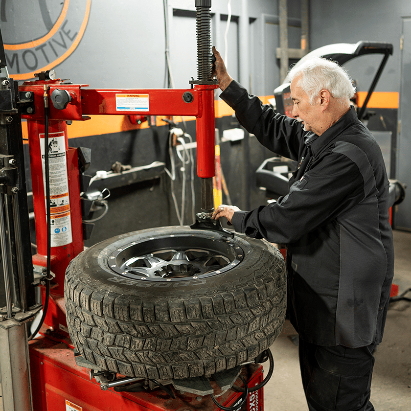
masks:
[[[328,90],[334,98],[350,99],[354,96],[355,87],[348,73],[333,61],[314,57],[291,68],[287,78],[291,82],[300,74],[299,85],[307,93],[311,104],[321,90]]]

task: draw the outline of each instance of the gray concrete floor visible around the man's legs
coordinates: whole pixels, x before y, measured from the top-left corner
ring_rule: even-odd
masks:
[[[394,231],[394,284],[411,288],[411,232]],[[411,297],[411,293],[407,294]],[[287,320],[271,347],[274,373],[264,387],[264,411],[307,411],[298,365],[296,334]],[[383,342],[374,352],[371,402],[376,411],[411,410],[411,302],[390,304]],[[264,367],[268,369],[267,363]]]

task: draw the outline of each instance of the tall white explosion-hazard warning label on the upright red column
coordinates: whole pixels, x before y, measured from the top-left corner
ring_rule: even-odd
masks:
[[[40,148],[42,153],[43,181],[46,201],[46,160],[44,153],[44,138],[44,134],[40,134]],[[50,185],[51,247],[65,246],[73,241],[71,234],[70,203],[68,200],[66,157],[64,132],[49,133],[48,175]]]

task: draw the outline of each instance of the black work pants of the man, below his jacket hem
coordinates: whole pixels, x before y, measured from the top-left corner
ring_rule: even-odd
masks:
[[[375,344],[322,347],[300,338],[298,345],[310,411],[374,411],[369,397]]]

